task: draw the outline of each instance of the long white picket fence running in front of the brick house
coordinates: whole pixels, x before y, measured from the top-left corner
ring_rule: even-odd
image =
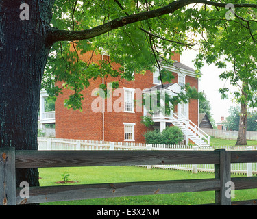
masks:
[[[198,147],[193,145],[169,145],[169,144],[145,144],[132,142],[103,142],[94,140],[74,140],[63,138],[44,138],[38,137],[38,150],[257,150],[257,146],[207,146]],[[214,172],[213,164],[186,164],[186,165],[148,165],[147,168],[164,168],[171,170],[186,170],[197,172]],[[243,174],[247,176],[257,175],[257,163],[231,164],[231,172],[234,174]]]

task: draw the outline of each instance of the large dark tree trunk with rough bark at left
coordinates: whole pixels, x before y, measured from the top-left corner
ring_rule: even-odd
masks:
[[[45,1],[29,1],[29,20],[21,20],[21,3],[0,2],[0,147],[37,150],[40,84],[50,49],[45,38],[51,7]],[[39,185],[38,170],[17,169],[17,187],[21,181]]]

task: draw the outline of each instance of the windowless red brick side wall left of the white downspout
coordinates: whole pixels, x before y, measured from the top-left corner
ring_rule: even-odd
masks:
[[[81,56],[82,60],[90,60],[91,53],[86,53]],[[93,55],[93,62],[101,60],[101,55]],[[73,91],[64,89],[56,99],[56,138],[71,138],[71,139],[86,139],[86,140],[101,140],[102,136],[102,114],[95,113],[91,110],[91,103],[95,99],[91,96],[94,88],[98,88],[101,84],[101,79],[90,81],[90,87],[85,88],[82,92],[84,101],[82,101],[82,112],[79,110],[67,109],[64,107],[64,100],[69,98],[69,95],[74,94]],[[57,83],[62,86],[62,82]]]

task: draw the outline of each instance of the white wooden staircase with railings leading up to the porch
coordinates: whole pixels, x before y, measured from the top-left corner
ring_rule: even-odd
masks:
[[[173,116],[170,116],[169,119],[173,125],[180,127],[184,136],[186,136],[187,143],[188,140],[191,140],[199,147],[210,146],[210,136],[188,118],[173,113]]]

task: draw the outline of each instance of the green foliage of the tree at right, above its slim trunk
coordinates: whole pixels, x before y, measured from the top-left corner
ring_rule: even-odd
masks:
[[[241,2],[241,1],[238,1]],[[244,1],[253,2],[253,1]],[[195,66],[200,70],[205,60],[224,69],[219,76],[238,90],[233,92],[237,103],[257,107],[257,14],[249,8],[232,8],[231,18],[217,18],[218,10],[210,10],[210,18],[203,21],[206,27],[201,40],[200,53]],[[215,31],[213,31],[215,29]],[[228,84],[228,83],[227,83]],[[219,89],[222,98],[228,98],[228,87]]]

